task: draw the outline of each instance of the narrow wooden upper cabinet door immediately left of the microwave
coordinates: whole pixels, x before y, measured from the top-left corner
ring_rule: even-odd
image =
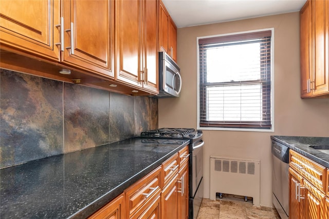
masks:
[[[145,21],[144,21],[144,57],[145,63],[143,69],[145,71],[145,80],[143,88],[159,91],[158,86],[158,30],[157,30],[157,10],[158,1],[144,0]]]

